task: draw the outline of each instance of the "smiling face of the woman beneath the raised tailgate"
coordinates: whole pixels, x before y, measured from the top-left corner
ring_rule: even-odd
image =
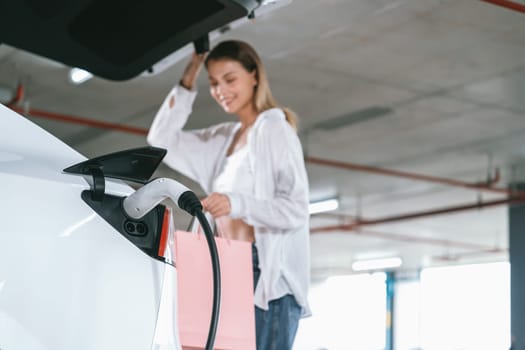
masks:
[[[226,113],[239,114],[255,109],[255,71],[248,72],[234,60],[211,60],[208,62],[208,78],[211,95]]]

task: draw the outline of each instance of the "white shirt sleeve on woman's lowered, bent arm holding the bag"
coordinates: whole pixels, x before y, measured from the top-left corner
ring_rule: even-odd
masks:
[[[287,122],[265,125],[271,130],[262,130],[263,135],[257,139],[265,143],[264,157],[257,155],[260,157],[256,160],[257,168],[259,171],[261,167],[272,169],[272,174],[261,180],[275,181],[273,196],[258,199],[242,193],[227,193],[232,208],[230,216],[254,227],[290,230],[308,222],[308,179],[301,143],[295,131],[284,123]]]

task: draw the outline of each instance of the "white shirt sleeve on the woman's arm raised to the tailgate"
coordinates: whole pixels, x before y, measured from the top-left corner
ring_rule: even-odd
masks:
[[[221,134],[220,125],[199,130],[182,130],[191,114],[196,96],[196,91],[175,86],[157,112],[147,141],[152,146],[167,149],[163,161],[206,189],[222,149],[221,142],[224,142],[227,135]],[[170,107],[172,98],[174,105]]]

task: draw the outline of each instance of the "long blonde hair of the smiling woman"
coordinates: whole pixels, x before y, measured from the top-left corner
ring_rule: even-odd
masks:
[[[254,104],[257,112],[261,113],[274,107],[281,108],[286,121],[297,130],[297,115],[289,108],[279,106],[275,101],[264,65],[252,46],[240,40],[222,41],[210,51],[204,65],[208,68],[210,61],[222,59],[237,61],[250,73],[255,70],[257,85],[254,91]]]

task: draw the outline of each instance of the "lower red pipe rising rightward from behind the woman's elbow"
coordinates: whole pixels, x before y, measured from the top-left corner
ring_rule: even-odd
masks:
[[[352,231],[361,226],[385,224],[385,223],[390,223],[390,222],[405,221],[405,220],[429,217],[429,216],[434,216],[434,215],[457,213],[457,212],[468,211],[472,209],[481,209],[481,208],[493,207],[493,206],[498,206],[498,205],[517,204],[517,203],[523,203],[523,202],[525,202],[525,198],[523,197],[499,199],[499,200],[494,200],[494,201],[459,205],[455,207],[440,208],[440,209],[421,211],[421,212],[398,215],[398,216],[387,216],[387,217],[383,217],[379,219],[356,220],[355,222],[351,224],[345,224],[345,225],[316,227],[316,228],[311,229],[310,233],[332,232],[332,231]]]

